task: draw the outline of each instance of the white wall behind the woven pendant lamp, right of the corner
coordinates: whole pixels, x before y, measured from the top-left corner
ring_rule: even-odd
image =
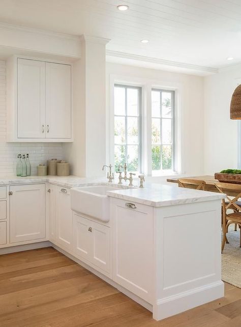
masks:
[[[241,65],[204,78],[204,173],[237,168],[237,121],[230,120],[232,93]]]

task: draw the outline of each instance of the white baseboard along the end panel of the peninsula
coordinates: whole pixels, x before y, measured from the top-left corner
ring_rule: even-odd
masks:
[[[161,320],[207,302],[223,298],[223,296],[224,283],[222,281],[175,294],[157,301],[157,304],[153,306],[153,318]]]

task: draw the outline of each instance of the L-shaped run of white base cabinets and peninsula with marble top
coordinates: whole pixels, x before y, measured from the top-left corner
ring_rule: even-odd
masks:
[[[15,177],[0,184],[0,254],[53,246],[157,320],[224,295],[222,194],[75,176]],[[108,219],[72,211],[81,187],[93,206],[97,198],[109,201]]]

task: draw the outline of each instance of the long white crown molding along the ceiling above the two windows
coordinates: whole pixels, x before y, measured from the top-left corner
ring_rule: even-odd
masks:
[[[143,56],[143,55],[126,53],[126,52],[106,50],[106,55],[113,56],[113,57],[119,57],[119,58],[126,58],[126,59],[141,61],[141,62],[148,62],[148,63],[158,64],[158,65],[190,69],[190,70],[199,71],[199,72],[201,71],[201,72],[206,72],[206,73],[210,73],[210,74],[216,74],[219,72],[219,70],[217,68],[185,64],[185,63],[178,63],[178,62],[173,62],[173,61],[169,61],[169,60],[164,60],[164,59],[159,59],[159,58],[154,58],[154,57],[147,57],[147,56]]]

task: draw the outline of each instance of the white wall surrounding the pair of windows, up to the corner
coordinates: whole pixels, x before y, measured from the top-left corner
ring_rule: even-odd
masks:
[[[110,80],[113,75],[117,79],[120,76],[125,79],[126,76],[127,80],[132,80],[132,82],[149,81],[153,85],[158,84],[166,87],[172,85],[178,88],[182,135],[182,167],[180,173],[187,176],[203,174],[203,77],[106,63],[107,127],[109,126],[110,115]],[[107,140],[109,140],[108,128]],[[166,177],[155,177],[155,181],[162,182],[165,180]]]

